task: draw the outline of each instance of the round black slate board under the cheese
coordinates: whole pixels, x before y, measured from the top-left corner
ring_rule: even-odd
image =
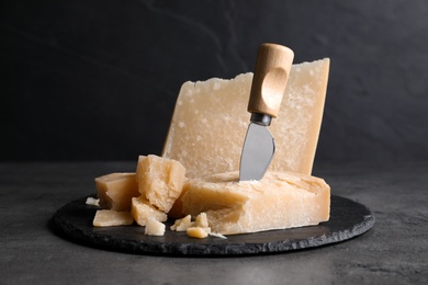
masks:
[[[86,205],[82,197],[65,205],[52,223],[58,233],[90,247],[136,254],[170,255],[236,255],[286,252],[348,240],[364,233],[374,225],[373,213],[362,204],[331,195],[330,219],[317,226],[256,233],[227,236],[227,239],[189,238],[185,232],[170,231],[168,220],[162,237],[144,235],[144,227],[92,226],[95,206]]]

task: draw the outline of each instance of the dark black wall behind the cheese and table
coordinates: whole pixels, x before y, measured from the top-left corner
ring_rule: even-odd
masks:
[[[330,57],[317,160],[428,159],[428,1],[0,2],[1,161],[160,153],[187,80]]]

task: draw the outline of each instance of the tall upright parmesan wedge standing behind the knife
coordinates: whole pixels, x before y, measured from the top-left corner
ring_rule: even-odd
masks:
[[[280,113],[270,171],[311,174],[322,124],[329,59],[293,65]],[[180,161],[188,178],[239,169],[248,128],[252,73],[181,87],[162,156]]]

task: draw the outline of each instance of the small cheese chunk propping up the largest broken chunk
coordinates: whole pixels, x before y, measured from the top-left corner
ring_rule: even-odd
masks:
[[[158,221],[166,221],[168,218],[167,214],[153,206],[144,195],[132,198],[131,215],[139,226],[146,226],[150,217]]]

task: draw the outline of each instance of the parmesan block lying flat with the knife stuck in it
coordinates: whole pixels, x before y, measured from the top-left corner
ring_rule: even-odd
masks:
[[[238,172],[191,179],[182,212],[206,213],[214,232],[236,235],[317,225],[329,219],[330,187],[315,176],[268,172],[260,181],[238,181]]]

